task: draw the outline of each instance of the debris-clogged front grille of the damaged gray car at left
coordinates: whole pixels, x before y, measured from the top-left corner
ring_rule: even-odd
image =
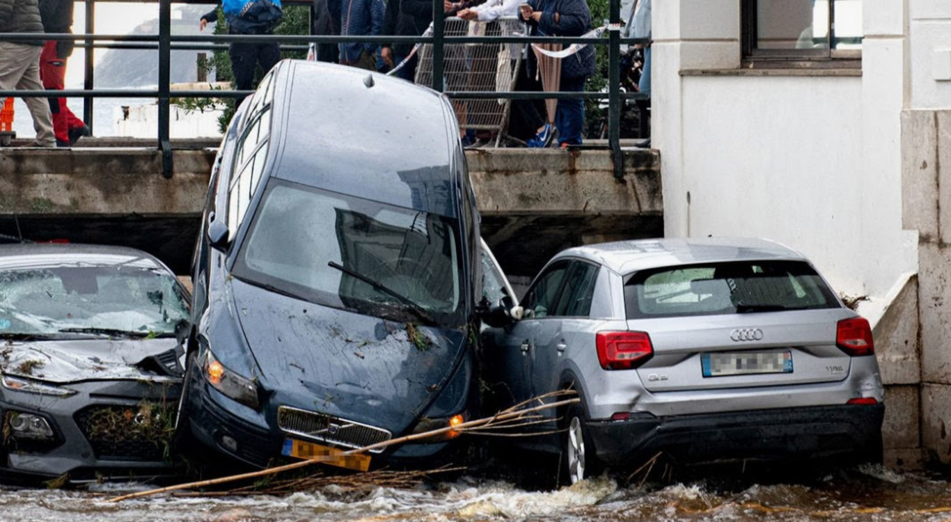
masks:
[[[73,418],[96,458],[162,461],[171,444],[174,411],[159,405],[89,406]]]

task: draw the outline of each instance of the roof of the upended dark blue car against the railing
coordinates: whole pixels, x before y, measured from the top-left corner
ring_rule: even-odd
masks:
[[[397,77],[285,60],[275,77],[272,176],[455,217],[464,184],[456,116],[436,91]]]

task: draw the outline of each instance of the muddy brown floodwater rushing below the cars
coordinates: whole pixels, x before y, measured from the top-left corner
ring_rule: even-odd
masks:
[[[703,479],[619,485],[607,477],[555,491],[463,476],[409,489],[343,490],[250,497],[171,495],[109,503],[142,484],[84,491],[5,488],[0,520],[365,520],[365,521],[951,521],[946,477],[864,466],[785,483]]]

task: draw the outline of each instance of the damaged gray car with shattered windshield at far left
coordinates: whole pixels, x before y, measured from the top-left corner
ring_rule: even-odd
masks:
[[[0,478],[168,474],[187,295],[138,250],[0,246]]]

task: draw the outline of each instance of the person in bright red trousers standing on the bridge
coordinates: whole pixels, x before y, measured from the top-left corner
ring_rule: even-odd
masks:
[[[43,29],[52,33],[72,32],[73,0],[40,0],[40,18]],[[63,90],[65,87],[66,61],[75,42],[72,40],[47,40],[40,54],[40,80],[48,90]],[[66,98],[49,98],[49,110],[53,118],[53,132],[57,146],[72,146],[83,136],[88,136],[89,127],[69,110]]]

